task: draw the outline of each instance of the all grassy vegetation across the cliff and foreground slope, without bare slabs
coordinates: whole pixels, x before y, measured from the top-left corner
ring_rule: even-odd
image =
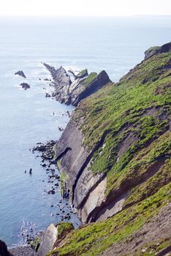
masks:
[[[162,225],[170,217],[170,67],[170,50],[154,54],[76,108],[72,120],[79,124],[81,118],[88,151],[104,137],[88,165],[94,176],[107,177],[99,211],[123,193],[126,198],[122,211],[72,231],[49,255],[100,255],[132,241],[133,251],[108,255],[156,255],[170,244],[168,230],[157,229],[163,212]],[[98,219],[98,211],[95,214]],[[151,222],[154,231],[145,241]],[[143,239],[137,241],[143,228]]]

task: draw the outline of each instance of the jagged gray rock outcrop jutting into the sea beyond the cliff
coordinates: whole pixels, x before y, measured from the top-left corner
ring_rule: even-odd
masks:
[[[96,72],[88,75],[87,69],[84,69],[75,75],[75,72],[69,70],[75,79],[72,82],[64,67],[55,69],[45,63],[44,66],[53,78],[51,83],[54,88],[52,97],[56,97],[56,100],[66,105],[77,106],[82,99],[94,94],[94,92],[111,82],[105,71],[100,72],[99,75]]]

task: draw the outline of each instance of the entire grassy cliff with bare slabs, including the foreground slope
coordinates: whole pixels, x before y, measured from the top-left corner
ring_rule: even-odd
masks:
[[[171,51],[164,49],[72,114],[56,161],[83,223],[96,223],[73,231],[49,255],[170,251]]]

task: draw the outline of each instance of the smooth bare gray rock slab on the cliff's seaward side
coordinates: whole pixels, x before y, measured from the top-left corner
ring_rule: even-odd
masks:
[[[96,208],[99,208],[105,200],[104,175],[101,173],[94,176],[89,169],[94,151],[102,146],[103,138],[98,145],[88,151],[88,148],[83,146],[81,120],[77,125],[74,115],[56,144],[56,161],[60,161],[59,169],[66,177],[72,205],[77,208],[82,222],[87,223],[91,221]]]

